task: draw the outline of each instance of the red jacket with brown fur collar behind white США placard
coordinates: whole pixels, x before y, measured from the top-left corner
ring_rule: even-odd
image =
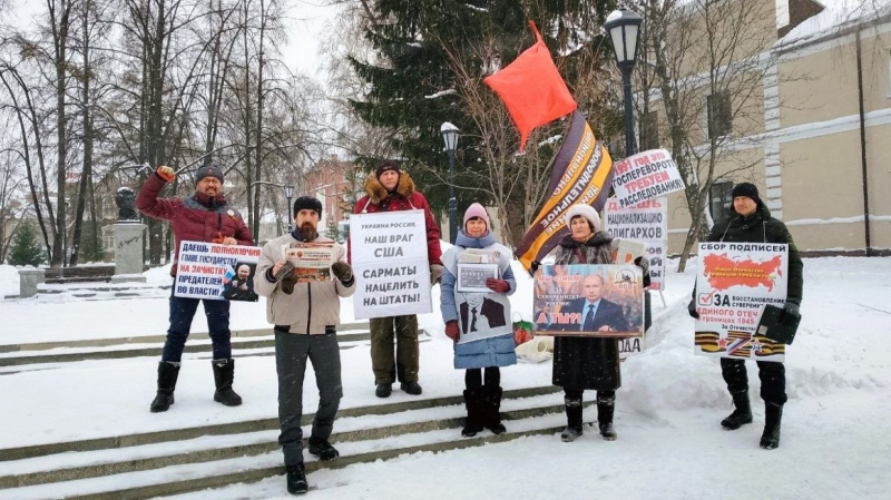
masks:
[[[433,218],[433,213],[430,212],[430,204],[427,203],[424,195],[414,189],[414,182],[409,176],[408,171],[399,173],[399,184],[396,192],[390,194],[378,182],[374,173],[365,177],[365,196],[359,199],[353,208],[353,214],[374,214],[378,212],[398,212],[398,210],[424,210],[424,223],[427,225],[427,259],[430,265],[442,265],[442,248],[439,246],[439,226],[437,219]],[[350,241],[346,242],[346,259],[352,262],[352,245]]]

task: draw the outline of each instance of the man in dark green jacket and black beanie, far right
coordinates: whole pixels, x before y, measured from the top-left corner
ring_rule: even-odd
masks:
[[[771,217],[771,210],[761,200],[754,184],[742,183],[733,188],[733,213],[712,228],[708,242],[726,243],[780,243],[789,245],[789,292],[783,308],[790,314],[799,315],[804,278],[804,265],[799,249],[786,225]],[[694,292],[695,296],[695,292]],[[689,302],[689,315],[698,318],[695,301]],[[786,370],[783,363],[758,361],[758,379],[761,379],[761,399],[765,403],[764,432],[761,448],[772,450],[780,445],[780,421],[783,416],[783,404],[786,402]],[[744,424],[752,423],[752,408],[748,404],[748,376],[744,360],[721,359],[721,372],[727,383],[727,390],[736,409],[721,425],[735,431]]]

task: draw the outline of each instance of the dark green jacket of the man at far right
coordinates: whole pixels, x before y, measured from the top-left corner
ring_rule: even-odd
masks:
[[[754,214],[744,217],[733,210],[726,220],[712,228],[708,242],[724,243],[784,243],[789,245],[789,294],[786,301],[801,304],[801,294],[804,286],[803,268],[799,248],[792,241],[786,225],[782,220],[771,217],[771,210],[758,203]]]

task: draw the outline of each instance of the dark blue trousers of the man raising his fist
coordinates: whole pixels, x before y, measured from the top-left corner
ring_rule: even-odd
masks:
[[[204,315],[207,316],[207,331],[214,344],[214,360],[228,360],[232,357],[232,343],[229,342],[229,301],[208,301],[203,298],[175,297],[170,294],[170,329],[167,330],[167,340],[164,342],[161,361],[178,363],[183,357],[192,330],[192,318],[198,310],[198,302],[204,303]]]

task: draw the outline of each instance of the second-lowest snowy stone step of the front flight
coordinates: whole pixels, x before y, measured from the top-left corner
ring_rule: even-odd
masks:
[[[515,421],[562,413],[558,393],[521,400],[506,400],[502,416],[508,427]],[[332,441],[345,443],[378,441],[407,434],[451,430],[458,433],[463,425],[463,405],[407,411],[385,418],[345,418],[337,421]],[[309,435],[310,428],[304,429]],[[235,457],[261,455],[278,449],[277,430],[224,437],[203,437],[188,441],[170,441],[133,447],[126,450],[98,450],[65,453],[57,457],[7,462],[3,469],[12,476],[0,477],[0,488],[17,488],[52,482],[100,478],[160,469],[169,465],[204,463]],[[304,443],[305,444],[305,443]]]

